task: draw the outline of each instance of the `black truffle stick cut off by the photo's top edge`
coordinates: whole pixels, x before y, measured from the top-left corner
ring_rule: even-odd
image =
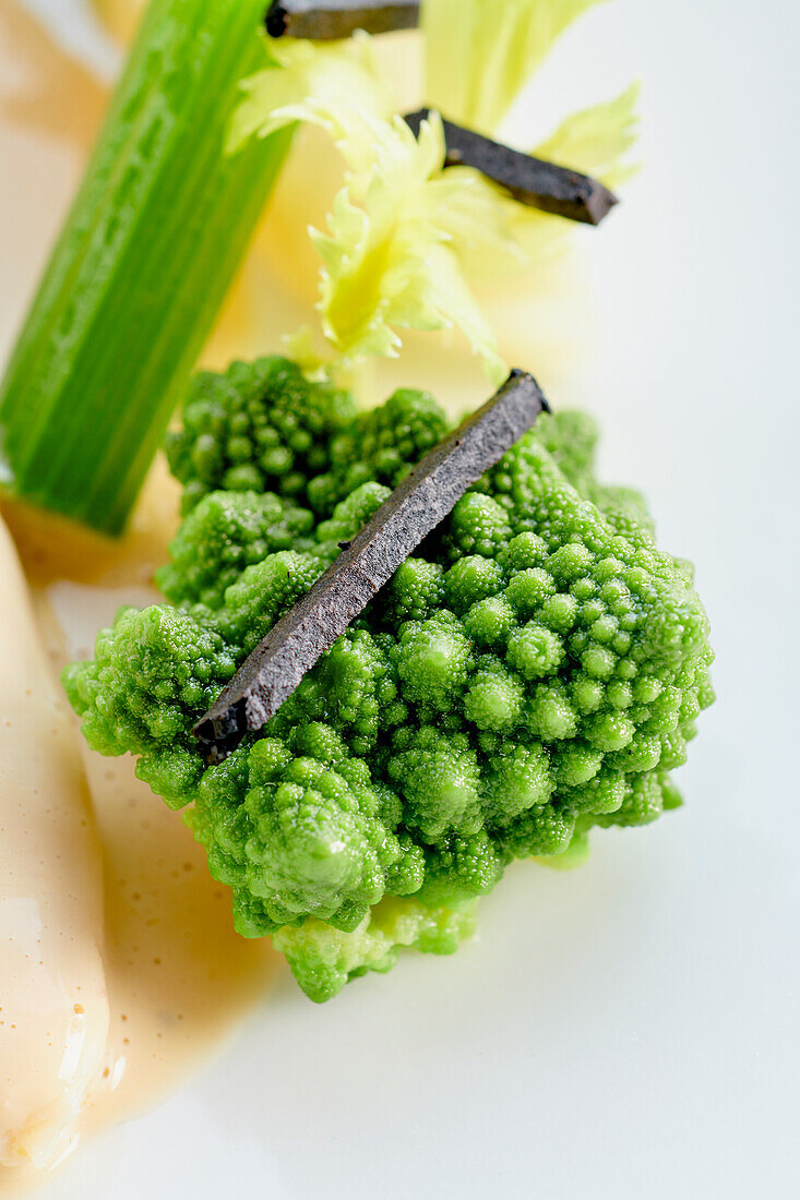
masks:
[[[351,37],[357,29],[390,34],[419,24],[419,4],[394,0],[275,0],[265,17],[270,37],[306,37],[317,42]]]

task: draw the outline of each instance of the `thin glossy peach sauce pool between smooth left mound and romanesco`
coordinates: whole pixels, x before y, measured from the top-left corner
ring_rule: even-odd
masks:
[[[40,626],[53,659],[89,658],[123,604],[161,598],[153,572],[178,523],[178,488],[162,461],[119,542],[29,510],[10,514],[24,547]],[[58,550],[54,550],[58,547]],[[77,726],[77,722],[76,722]],[[101,1088],[90,1127],[142,1109],[174,1088],[237,1016],[263,994],[277,956],[233,930],[231,896],[215,883],[180,814],[79,738],[103,846],[106,972],[112,1010],[113,1097]]]

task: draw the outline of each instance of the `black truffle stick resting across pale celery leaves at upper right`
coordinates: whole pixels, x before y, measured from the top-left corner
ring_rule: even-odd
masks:
[[[406,124],[419,136],[419,126],[430,109],[408,113]],[[443,120],[447,167],[474,167],[530,208],[554,212],[569,221],[599,224],[619,200],[614,192],[579,170],[512,150],[511,146]]]

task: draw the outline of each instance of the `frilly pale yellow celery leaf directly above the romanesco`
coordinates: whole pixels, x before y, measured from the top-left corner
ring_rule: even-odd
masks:
[[[506,228],[506,205],[470,170],[443,170],[444,133],[432,114],[419,139],[401,118],[386,121],[351,104],[294,104],[280,120],[328,130],[346,166],[324,233],[323,332],[342,365],[394,358],[398,329],[456,326],[492,382],[506,374],[494,334],[465,277],[466,264],[520,251]]]

